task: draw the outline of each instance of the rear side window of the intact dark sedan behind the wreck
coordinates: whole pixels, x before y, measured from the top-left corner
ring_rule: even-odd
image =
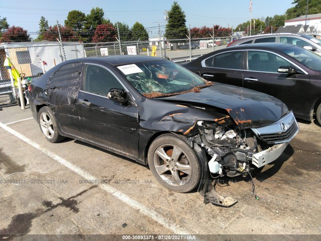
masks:
[[[230,51],[215,55],[205,60],[206,67],[221,69],[242,69],[242,51]]]

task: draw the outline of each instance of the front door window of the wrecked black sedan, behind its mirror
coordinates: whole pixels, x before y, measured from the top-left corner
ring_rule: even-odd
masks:
[[[112,88],[122,89],[123,86],[110,71],[96,65],[86,66],[84,91],[105,96]]]

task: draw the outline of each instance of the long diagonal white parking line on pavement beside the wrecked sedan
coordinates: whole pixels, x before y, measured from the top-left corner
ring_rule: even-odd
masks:
[[[15,137],[18,137],[20,140],[26,142],[30,146],[38,149],[42,153],[46,154],[47,156],[51,157],[55,161],[59,162],[61,165],[64,165],[65,167],[69,168],[71,171],[77,173],[79,176],[83,177],[87,180],[98,180],[99,178],[96,178],[89,174],[88,172],[82,170],[81,168],[77,167],[76,165],[68,162],[67,160],[63,159],[62,157],[52,153],[48,149],[38,145],[34,141],[28,139],[27,137],[21,135],[20,133],[16,132],[15,130],[11,129],[7,125],[0,122],[0,127],[10,134],[14,135]],[[133,200],[126,194],[118,191],[117,189],[113,188],[110,185],[107,184],[101,184],[99,187],[104,190],[105,192],[110,193],[114,197],[118,198],[123,203],[127,204],[128,206],[136,209],[137,211],[141,212],[142,214],[146,215],[147,217],[153,219],[154,221],[158,222],[159,224],[163,225],[164,227],[172,230],[175,234],[189,234],[187,231],[185,231],[183,228],[177,226],[174,222],[171,222],[167,220],[165,217],[162,216],[162,214],[144,206],[140,202]]]

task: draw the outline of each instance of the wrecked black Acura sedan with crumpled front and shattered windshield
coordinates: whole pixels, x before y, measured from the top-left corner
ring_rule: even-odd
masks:
[[[250,175],[298,132],[280,100],[157,57],[66,61],[33,80],[28,98],[49,142],[69,137],[129,157],[170,190],[198,188],[221,206],[236,201],[217,194],[213,178]]]

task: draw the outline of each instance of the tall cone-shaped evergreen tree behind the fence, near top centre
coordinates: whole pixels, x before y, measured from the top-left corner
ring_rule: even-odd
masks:
[[[168,15],[169,19],[166,25],[165,37],[169,40],[186,38],[186,35],[188,35],[186,16],[177,2],[173,3]]]

